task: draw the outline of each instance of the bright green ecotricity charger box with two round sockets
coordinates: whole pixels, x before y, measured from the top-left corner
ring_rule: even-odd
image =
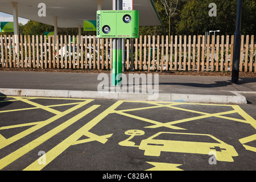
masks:
[[[97,11],[97,38],[138,38],[139,11]]]

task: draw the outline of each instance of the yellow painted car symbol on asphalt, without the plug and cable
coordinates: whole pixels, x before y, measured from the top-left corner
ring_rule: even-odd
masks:
[[[214,142],[191,142],[158,139],[161,135],[169,135],[168,138],[172,139],[172,135],[180,135],[180,139],[183,137],[193,138],[197,136],[200,138],[210,138]],[[162,151],[164,152],[181,152],[191,154],[209,154],[209,152],[216,152],[216,159],[219,161],[233,162],[232,156],[238,156],[233,146],[222,142],[220,139],[208,134],[193,134],[193,133],[171,133],[171,132],[159,132],[150,138],[144,139],[139,145],[139,149],[144,150],[144,155],[147,156],[160,156]]]

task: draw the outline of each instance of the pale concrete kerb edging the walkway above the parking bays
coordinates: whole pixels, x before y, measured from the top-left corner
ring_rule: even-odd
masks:
[[[30,97],[63,97],[63,98],[94,98],[136,101],[175,101],[213,104],[246,104],[246,98],[241,94],[235,96],[159,93],[157,97],[144,93],[97,92],[82,90],[44,90],[44,89],[5,89],[0,88],[0,94],[6,96]]]

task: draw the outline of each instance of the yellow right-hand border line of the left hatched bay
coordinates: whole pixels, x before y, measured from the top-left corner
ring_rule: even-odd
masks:
[[[16,134],[13,137],[10,137],[10,138],[6,139],[5,142],[0,143],[0,149],[3,148],[3,147],[8,146],[9,144],[11,144],[13,142],[16,142],[17,140],[19,140],[23,137],[26,137],[27,135],[33,133],[34,131],[39,130],[40,128],[48,125],[49,123],[51,123],[53,121],[56,121],[57,119],[71,113],[72,111],[75,111],[76,109],[79,109],[80,107],[88,104],[91,101],[93,101],[93,100],[87,100],[87,101],[81,102],[79,105],[73,106],[70,109],[65,110],[63,113],[59,113],[59,114],[47,119],[46,121],[39,122],[38,125],[32,126],[31,128],[29,128],[25,131],[22,131],[21,133]],[[28,123],[28,125],[29,125],[29,123]]]

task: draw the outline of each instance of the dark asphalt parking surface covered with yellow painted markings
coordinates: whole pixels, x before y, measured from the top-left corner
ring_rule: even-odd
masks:
[[[1,96],[0,169],[101,171],[102,179],[114,171],[147,171],[149,179],[151,170],[254,171],[255,94],[246,98],[214,105]]]

